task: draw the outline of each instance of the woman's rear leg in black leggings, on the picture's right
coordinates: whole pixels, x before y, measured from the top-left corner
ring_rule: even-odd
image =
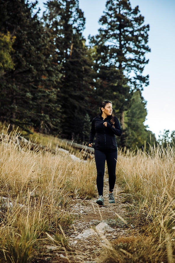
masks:
[[[112,192],[116,179],[115,169],[117,164],[117,150],[108,150],[108,153],[106,153],[106,162],[108,166],[109,191]]]

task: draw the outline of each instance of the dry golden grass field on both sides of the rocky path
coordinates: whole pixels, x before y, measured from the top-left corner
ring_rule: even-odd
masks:
[[[34,262],[44,245],[71,251],[72,200],[96,193],[94,160],[74,161],[59,150],[19,147],[18,134],[0,141],[0,262]],[[174,262],[175,150],[119,151],[118,184],[139,235],[106,247],[104,262]]]

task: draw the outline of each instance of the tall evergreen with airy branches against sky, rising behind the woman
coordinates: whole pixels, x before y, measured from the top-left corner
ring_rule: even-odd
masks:
[[[97,49],[97,90],[101,89],[105,99],[113,98],[125,129],[124,111],[129,108],[132,91],[148,85],[143,69],[148,63],[145,54],[150,51],[149,25],[144,25],[139,7],[132,9],[129,0],[108,0],[99,23],[99,34],[90,38]]]

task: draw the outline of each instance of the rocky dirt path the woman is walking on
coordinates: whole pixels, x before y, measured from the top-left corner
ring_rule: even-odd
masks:
[[[116,187],[115,187],[116,188]],[[115,204],[108,203],[108,178],[104,179],[104,206],[94,200],[74,200],[71,213],[77,216],[69,235],[71,252],[56,253],[51,262],[101,263],[104,262],[105,245],[118,238],[126,238],[137,231],[126,206],[122,203],[125,194],[118,188],[114,192]],[[72,253],[73,251],[73,253]],[[54,252],[54,251],[53,251]]]

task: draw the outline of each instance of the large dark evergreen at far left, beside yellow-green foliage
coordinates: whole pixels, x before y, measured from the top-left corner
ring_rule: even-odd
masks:
[[[0,116],[1,121],[23,129],[34,126],[46,132],[59,120],[55,103],[59,65],[52,63],[49,38],[35,8],[36,3],[29,1],[0,0],[0,32],[15,36],[15,67],[6,71],[1,81]]]

